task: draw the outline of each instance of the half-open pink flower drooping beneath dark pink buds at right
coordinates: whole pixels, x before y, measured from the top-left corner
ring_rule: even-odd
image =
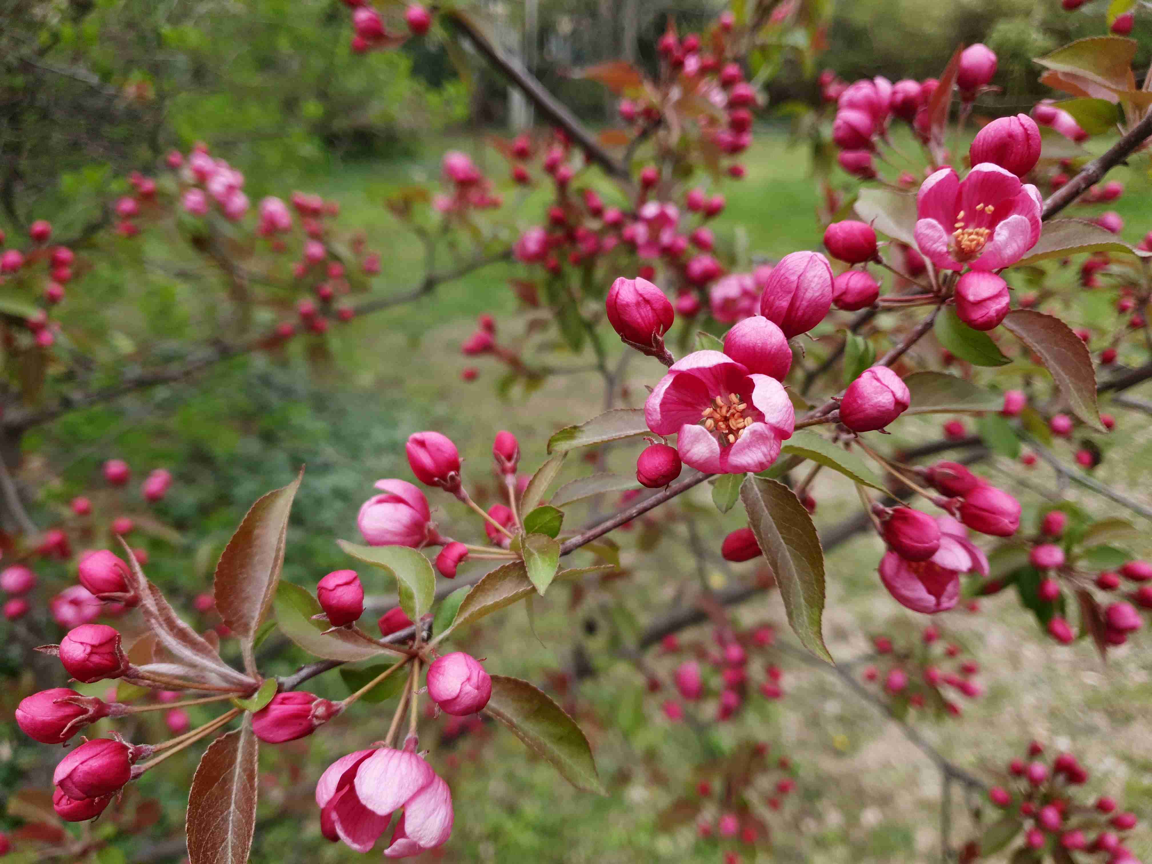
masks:
[[[896,600],[926,615],[947,612],[960,600],[960,574],[988,575],[988,559],[950,516],[937,517],[940,547],[927,561],[908,561],[896,552],[880,559],[880,581]]]

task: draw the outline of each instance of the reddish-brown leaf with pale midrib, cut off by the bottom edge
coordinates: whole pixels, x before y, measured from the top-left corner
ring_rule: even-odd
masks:
[[[188,795],[190,864],[244,864],[256,831],[257,752],[250,725],[212,742]]]

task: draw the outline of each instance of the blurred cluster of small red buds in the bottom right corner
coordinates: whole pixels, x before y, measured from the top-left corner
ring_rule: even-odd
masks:
[[[1089,772],[1071,753],[1051,763],[1033,741],[1028,757],[1008,764],[1005,782],[988,790],[988,799],[1006,813],[1018,813],[1016,855],[1055,852],[1055,861],[1071,861],[1071,852],[1100,855],[1107,864],[1139,864],[1124,847],[1123,835],[1136,827],[1135,813],[1119,811],[1115,798],[1084,798],[1081,788]],[[1018,839],[1018,840],[1017,840]],[[970,843],[961,861],[973,861],[978,843]]]

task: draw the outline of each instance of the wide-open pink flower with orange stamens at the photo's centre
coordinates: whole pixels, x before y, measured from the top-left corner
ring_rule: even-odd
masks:
[[[763,471],[791,438],[796,414],[783,385],[720,351],[673,364],[644,404],[649,429],[676,434],[680,457],[708,473]]]

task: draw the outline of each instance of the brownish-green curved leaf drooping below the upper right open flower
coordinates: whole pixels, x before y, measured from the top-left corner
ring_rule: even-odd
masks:
[[[1039,356],[1073,414],[1105,432],[1096,404],[1096,369],[1084,341],[1059,318],[1032,309],[1013,310],[1003,326]]]

